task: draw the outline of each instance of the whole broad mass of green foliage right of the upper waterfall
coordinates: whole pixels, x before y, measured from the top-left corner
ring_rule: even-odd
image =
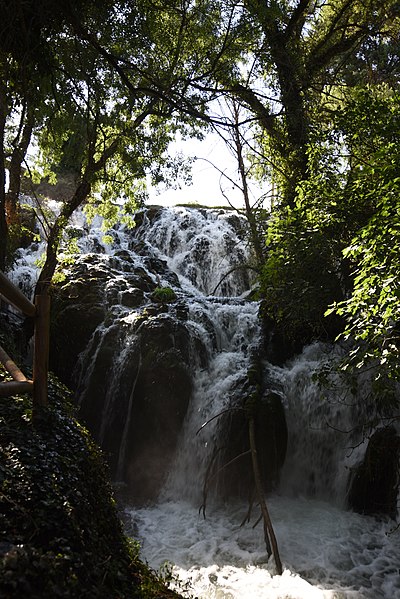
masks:
[[[388,353],[397,361],[399,115],[399,96],[385,86],[343,98],[314,134],[294,208],[271,219],[261,275],[267,313],[289,336],[324,336],[324,314],[336,319],[332,332],[347,321],[359,367],[365,351],[382,365]]]

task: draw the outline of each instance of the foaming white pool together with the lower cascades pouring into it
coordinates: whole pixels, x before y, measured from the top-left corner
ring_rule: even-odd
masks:
[[[328,408],[318,412],[322,400],[311,374],[324,356],[325,348],[313,346],[286,368],[269,366],[287,398],[289,439],[293,438],[280,494],[267,498],[282,576],[276,575],[273,559],[268,560],[261,523],[253,528],[256,508],[244,525],[245,503],[211,503],[203,518],[201,499],[194,491],[202,486],[203,476],[203,467],[193,460],[201,453],[193,446],[201,420],[196,410],[187,421],[180,457],[162,499],[156,505],[127,509],[143,556],[156,569],[166,560],[173,564],[183,594],[186,584],[188,596],[200,599],[400,598],[400,532],[395,523],[340,507],[350,441],[327,428],[326,419],[345,427],[351,410],[328,402]],[[212,389],[219,389],[221,380],[212,382],[216,374],[213,368],[204,373],[200,394],[211,397]],[[338,405],[344,408],[340,418]]]

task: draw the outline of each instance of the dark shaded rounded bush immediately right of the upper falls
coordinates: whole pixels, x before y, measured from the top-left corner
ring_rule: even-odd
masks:
[[[324,312],[342,297],[337,240],[327,237],[313,211],[299,202],[271,219],[267,247],[260,275],[266,315],[293,341],[331,337],[336,325]]]

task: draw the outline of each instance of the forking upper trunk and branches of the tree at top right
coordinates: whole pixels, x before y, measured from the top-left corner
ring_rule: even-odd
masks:
[[[396,2],[375,0],[244,2],[245,68],[219,83],[257,117],[284,205],[294,206],[297,185],[308,177],[308,144],[328,86],[396,15]]]

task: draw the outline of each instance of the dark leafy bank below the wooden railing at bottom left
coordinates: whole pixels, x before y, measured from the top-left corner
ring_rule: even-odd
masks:
[[[101,451],[69,392],[53,380],[50,407],[34,425],[31,415],[30,398],[2,398],[0,596],[178,597],[123,534]]]

